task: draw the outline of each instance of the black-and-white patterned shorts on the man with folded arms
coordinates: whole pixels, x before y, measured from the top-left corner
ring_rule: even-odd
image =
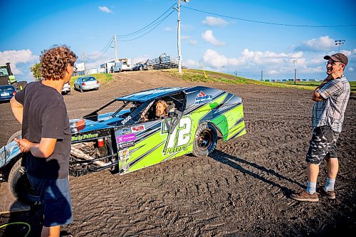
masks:
[[[320,164],[323,159],[337,158],[336,142],[339,134],[328,126],[315,127],[305,160],[311,164]]]

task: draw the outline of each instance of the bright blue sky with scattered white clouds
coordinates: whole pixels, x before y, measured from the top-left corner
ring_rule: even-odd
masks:
[[[18,80],[43,50],[69,46],[86,68],[117,58],[177,58],[176,0],[1,1],[0,65]],[[325,55],[349,58],[356,80],[356,1],[191,0],[182,3],[182,63],[245,78],[323,80]]]

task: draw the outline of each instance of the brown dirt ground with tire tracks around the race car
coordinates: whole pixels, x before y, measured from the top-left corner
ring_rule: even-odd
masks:
[[[115,80],[98,91],[73,92],[64,98],[74,118],[119,95],[191,85],[198,84],[164,72],[116,73]],[[244,100],[247,134],[219,142],[211,157],[178,157],[123,176],[104,171],[71,177],[74,222],[66,231],[73,236],[351,236],[355,232],[355,95],[338,143],[337,199],[300,203],[289,196],[306,184],[310,91],[199,85]],[[19,125],[9,104],[0,104],[0,110],[2,146]],[[323,183],[325,163],[320,171]]]

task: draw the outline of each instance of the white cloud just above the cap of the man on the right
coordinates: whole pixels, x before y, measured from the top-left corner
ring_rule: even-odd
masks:
[[[335,41],[329,36],[320,36],[308,41],[304,41],[300,46],[295,47],[295,51],[325,52],[335,49]]]

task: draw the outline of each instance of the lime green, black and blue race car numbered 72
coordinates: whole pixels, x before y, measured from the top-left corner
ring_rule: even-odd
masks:
[[[162,101],[171,106],[158,115]],[[218,139],[226,142],[246,133],[241,98],[202,86],[125,95],[81,119],[70,120],[70,130],[69,172],[75,177],[103,169],[126,174],[189,153],[206,157]],[[9,142],[19,136],[20,131]],[[12,194],[20,201],[36,201],[25,174],[19,151],[10,161],[0,157],[0,181],[9,181]]]

